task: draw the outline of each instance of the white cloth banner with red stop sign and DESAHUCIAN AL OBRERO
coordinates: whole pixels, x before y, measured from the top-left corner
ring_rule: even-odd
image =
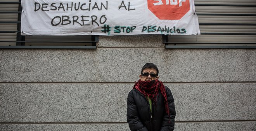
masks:
[[[194,0],[22,0],[21,35],[200,34]]]

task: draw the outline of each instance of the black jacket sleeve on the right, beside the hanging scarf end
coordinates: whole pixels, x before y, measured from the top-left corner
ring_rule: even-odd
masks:
[[[174,99],[173,95],[171,94],[171,90],[166,87],[166,96],[167,96],[167,101],[168,101],[168,107],[169,107],[169,112],[170,112],[170,123],[169,123],[169,116],[167,113],[164,114],[163,117],[163,123],[162,123],[162,128],[161,131],[173,131],[174,130],[174,119],[176,116],[176,111],[175,111],[175,106],[174,106]]]

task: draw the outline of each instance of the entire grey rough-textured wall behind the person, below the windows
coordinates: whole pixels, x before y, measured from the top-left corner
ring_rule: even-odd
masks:
[[[0,49],[0,131],[128,131],[146,62],[176,106],[175,131],[256,130],[255,49],[164,49],[161,35],[100,36],[97,49]]]

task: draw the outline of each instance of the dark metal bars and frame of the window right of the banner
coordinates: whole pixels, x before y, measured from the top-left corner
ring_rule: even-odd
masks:
[[[227,4],[195,4],[195,6],[218,6],[218,7],[256,7],[256,5],[227,5]],[[197,15],[208,15],[208,16],[253,16],[255,17],[256,14],[234,14],[234,13],[197,13]],[[199,25],[249,25],[249,26],[256,26],[256,24],[243,24],[243,23],[200,23]],[[201,33],[201,35],[255,35],[256,33],[208,33],[204,32]],[[165,44],[165,48],[244,48],[244,49],[255,49],[256,42],[254,43],[241,43],[241,42],[170,42],[168,39],[168,35],[162,35],[163,36],[163,44]],[[196,40],[197,41],[197,40]],[[179,44],[185,44],[185,45],[179,45]],[[193,45],[197,44],[197,45]],[[202,44],[202,45],[198,45]],[[211,45],[206,45],[211,44]],[[225,45],[227,44],[227,45]],[[230,45],[233,44],[233,45]],[[237,44],[237,45],[236,45]],[[238,45],[240,44],[240,45]],[[244,44],[244,45],[241,45]],[[250,45],[252,44],[252,45]],[[253,45],[254,44],[254,45]],[[250,45],[250,46],[247,46]]]

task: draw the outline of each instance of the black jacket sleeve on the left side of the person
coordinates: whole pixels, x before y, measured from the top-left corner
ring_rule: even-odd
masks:
[[[127,123],[131,131],[148,131],[138,117],[137,105],[133,99],[133,91],[130,91],[127,98]]]

